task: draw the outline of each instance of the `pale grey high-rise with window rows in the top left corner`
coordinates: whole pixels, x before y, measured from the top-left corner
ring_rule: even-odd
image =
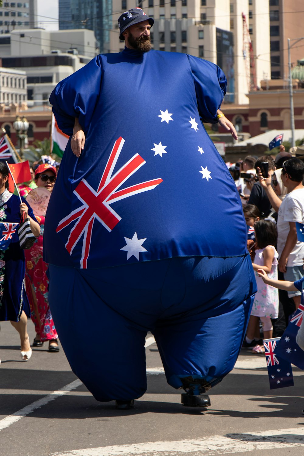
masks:
[[[0,7],[0,34],[12,30],[34,28],[37,25],[37,0],[4,1]]]

